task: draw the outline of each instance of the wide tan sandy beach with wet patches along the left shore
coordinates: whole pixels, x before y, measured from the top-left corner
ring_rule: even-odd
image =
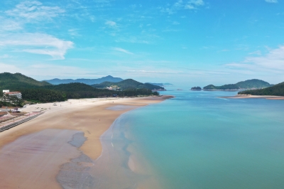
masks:
[[[116,118],[167,98],[70,99],[23,108],[45,113],[0,133],[0,188],[87,188],[94,181],[87,170],[102,153],[99,138]],[[84,182],[68,180],[79,176]]]

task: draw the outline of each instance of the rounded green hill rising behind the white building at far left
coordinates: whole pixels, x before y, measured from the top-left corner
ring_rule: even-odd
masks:
[[[0,90],[21,90],[51,85],[48,82],[39,82],[21,73],[0,73]]]

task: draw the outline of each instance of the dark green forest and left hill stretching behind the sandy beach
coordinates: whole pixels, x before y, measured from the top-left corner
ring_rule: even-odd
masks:
[[[146,86],[152,87],[151,84]],[[137,95],[158,95],[158,92],[152,92],[147,88],[131,88],[122,91],[114,91],[97,89],[79,82],[51,85],[48,82],[38,82],[37,80],[33,80],[33,78],[26,77],[20,73],[11,74],[7,72],[0,74],[0,97],[3,97],[2,90],[20,91],[22,98],[31,102],[57,102],[67,99],[113,96],[133,97]],[[7,100],[4,101],[2,99],[0,101],[0,106],[9,104]],[[15,101],[13,104],[21,104],[21,102]]]

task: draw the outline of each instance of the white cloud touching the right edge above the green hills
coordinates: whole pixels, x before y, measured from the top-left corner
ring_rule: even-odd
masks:
[[[260,52],[256,51],[256,53]],[[231,68],[246,68],[249,70],[265,70],[266,72],[283,72],[284,45],[269,50],[269,53],[266,55],[246,57],[241,63],[231,63],[227,64],[227,66]]]

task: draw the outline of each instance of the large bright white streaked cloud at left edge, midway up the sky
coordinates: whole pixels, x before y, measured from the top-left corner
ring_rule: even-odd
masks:
[[[44,33],[18,33],[0,36],[0,47],[21,48],[19,51],[50,55],[53,59],[62,60],[73,43]]]

